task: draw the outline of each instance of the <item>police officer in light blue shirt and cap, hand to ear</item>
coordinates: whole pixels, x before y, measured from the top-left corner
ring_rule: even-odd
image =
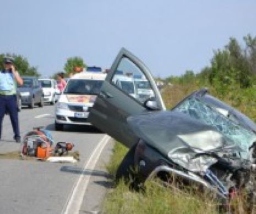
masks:
[[[6,112],[10,115],[14,131],[14,140],[20,143],[17,83],[23,85],[23,80],[13,65],[13,58],[4,58],[4,69],[0,72],[0,139],[2,137],[2,123]]]

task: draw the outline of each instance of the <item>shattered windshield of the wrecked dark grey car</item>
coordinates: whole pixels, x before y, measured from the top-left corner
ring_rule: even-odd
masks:
[[[253,132],[237,125],[235,122],[221,114],[221,112],[197,98],[184,100],[184,102],[176,106],[174,110],[188,114],[194,119],[200,120],[207,125],[214,126],[217,131],[233,140],[238,147],[246,152],[242,154],[243,157],[248,156],[248,150],[256,140],[256,136]]]

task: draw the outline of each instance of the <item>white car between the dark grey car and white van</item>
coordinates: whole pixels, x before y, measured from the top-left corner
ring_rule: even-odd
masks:
[[[61,93],[57,87],[57,81],[53,79],[39,79],[38,81],[43,90],[43,101],[54,105]]]

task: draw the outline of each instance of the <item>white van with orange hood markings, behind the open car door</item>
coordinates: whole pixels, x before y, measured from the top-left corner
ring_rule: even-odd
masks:
[[[56,105],[56,130],[64,125],[90,125],[87,118],[105,77],[102,72],[85,71],[70,78]]]

